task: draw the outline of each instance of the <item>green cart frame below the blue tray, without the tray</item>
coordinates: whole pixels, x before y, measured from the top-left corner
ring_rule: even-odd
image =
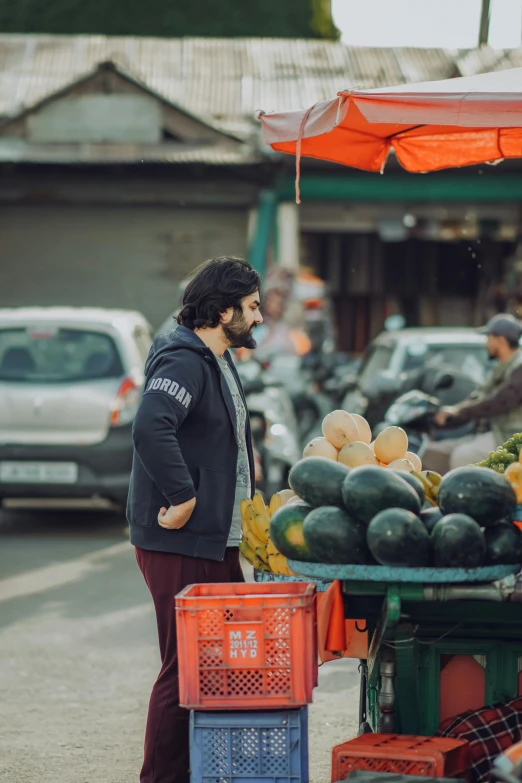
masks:
[[[345,617],[366,618],[370,646],[361,661],[361,730],[433,735],[439,726],[443,656],[480,656],[485,702],[518,695],[522,604],[484,598],[440,600],[444,588],[343,582]],[[362,629],[361,629],[362,630]],[[482,662],[481,661],[481,662]]]

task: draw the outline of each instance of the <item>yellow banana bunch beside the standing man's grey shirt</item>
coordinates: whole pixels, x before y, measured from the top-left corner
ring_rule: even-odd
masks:
[[[290,576],[292,571],[288,568],[286,557],[275,548],[270,538],[270,518],[282,503],[281,496],[276,494],[267,507],[259,492],[256,492],[253,500],[246,498],[241,502],[243,538],[239,551],[258,571]]]

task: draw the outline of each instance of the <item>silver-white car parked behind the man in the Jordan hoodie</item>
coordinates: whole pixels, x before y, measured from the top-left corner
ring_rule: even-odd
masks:
[[[0,501],[125,503],[151,342],[134,311],[0,309]]]

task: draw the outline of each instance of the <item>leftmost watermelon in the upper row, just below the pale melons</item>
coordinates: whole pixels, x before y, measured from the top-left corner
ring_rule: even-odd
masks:
[[[290,486],[312,508],[342,506],[342,486],[350,469],[326,457],[305,457],[293,466]]]

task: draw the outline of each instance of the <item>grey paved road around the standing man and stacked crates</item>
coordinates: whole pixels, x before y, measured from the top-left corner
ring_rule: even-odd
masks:
[[[0,781],[138,783],[156,627],[123,519],[0,512]],[[323,666],[312,783],[354,736],[355,662]]]

